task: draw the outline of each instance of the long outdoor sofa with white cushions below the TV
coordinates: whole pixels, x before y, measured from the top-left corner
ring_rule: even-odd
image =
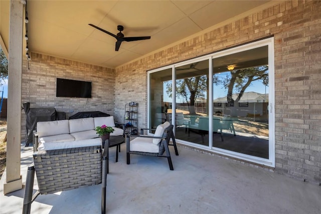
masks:
[[[34,132],[34,151],[50,149],[64,149],[70,147],[70,142],[90,146],[88,139],[97,138],[95,127],[111,126],[114,132],[111,136],[123,135],[121,128],[115,127],[114,117],[88,117],[70,120],[55,120],[37,122],[37,131]],[[79,142],[78,142],[79,141]]]

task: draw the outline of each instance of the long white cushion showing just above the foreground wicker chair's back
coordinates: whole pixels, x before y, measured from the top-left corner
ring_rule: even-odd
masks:
[[[102,140],[100,137],[98,137],[93,139],[67,141],[67,142],[46,142],[46,143],[41,143],[38,146],[38,151],[77,148],[77,147],[85,147],[85,146],[102,146]]]

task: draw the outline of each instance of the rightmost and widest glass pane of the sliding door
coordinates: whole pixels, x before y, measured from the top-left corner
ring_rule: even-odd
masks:
[[[267,47],[213,59],[213,147],[269,158],[267,62]]]

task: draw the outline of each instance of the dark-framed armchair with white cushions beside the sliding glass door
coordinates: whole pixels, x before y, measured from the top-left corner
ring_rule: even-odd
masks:
[[[169,122],[165,122],[165,123],[170,124]],[[158,126],[162,126],[162,125],[163,124]],[[156,128],[155,135],[156,135],[158,126]],[[173,128],[174,128],[173,125],[169,125],[167,128],[165,128],[161,136],[143,135],[144,134],[143,131],[149,130],[149,129],[140,129],[140,136],[138,137],[136,136],[136,138],[133,140],[130,140],[130,137],[132,137],[131,135],[126,135],[127,164],[130,164],[130,154],[166,157],[170,165],[170,170],[174,170],[171,153],[169,150],[169,145],[174,146],[176,155],[179,155],[179,152],[177,150]],[[170,144],[171,138],[172,138],[173,144]],[[158,141],[158,143],[157,142],[155,143],[155,141]]]

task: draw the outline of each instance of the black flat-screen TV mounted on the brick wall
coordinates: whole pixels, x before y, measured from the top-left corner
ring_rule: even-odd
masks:
[[[91,98],[91,82],[57,78],[56,96]]]

